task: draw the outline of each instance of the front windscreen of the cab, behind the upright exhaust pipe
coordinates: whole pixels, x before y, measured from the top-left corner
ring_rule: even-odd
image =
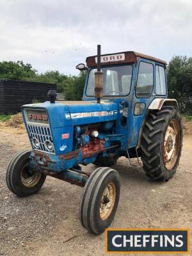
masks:
[[[125,96],[131,90],[132,65],[103,67],[103,96]],[[97,68],[90,70],[88,85],[86,88],[87,96],[94,96],[95,72]]]

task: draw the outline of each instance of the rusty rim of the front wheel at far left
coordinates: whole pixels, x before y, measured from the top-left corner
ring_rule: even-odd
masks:
[[[42,173],[29,172],[29,164],[26,163],[20,173],[20,180],[26,188],[34,187],[40,180]]]

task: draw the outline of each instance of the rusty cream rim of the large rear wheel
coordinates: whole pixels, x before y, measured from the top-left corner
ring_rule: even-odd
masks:
[[[170,121],[166,129],[163,145],[163,159],[167,170],[174,167],[179,152],[179,123],[177,120]]]

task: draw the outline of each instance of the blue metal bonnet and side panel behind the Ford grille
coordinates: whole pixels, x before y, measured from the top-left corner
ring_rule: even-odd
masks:
[[[28,104],[24,108],[45,109],[49,116],[49,124],[51,127],[52,137],[54,141],[54,148],[56,154],[65,154],[71,152],[73,149],[74,141],[74,127],[76,125],[93,124],[106,121],[113,121],[118,118],[118,105],[114,102],[108,104],[97,104],[91,102],[89,105],[65,105],[61,103],[51,104],[50,102]],[[109,116],[91,116],[83,118],[70,118],[70,115],[76,113],[89,113],[100,111],[115,111],[113,115]],[[56,114],[57,113],[57,114]],[[24,116],[24,114],[23,114]],[[67,116],[67,117],[66,117]],[[69,118],[68,118],[69,116]],[[25,117],[24,117],[25,121]],[[25,121],[26,124],[26,121]],[[26,127],[27,131],[28,128]],[[68,139],[62,140],[61,135],[69,133]],[[29,134],[29,131],[28,131]]]

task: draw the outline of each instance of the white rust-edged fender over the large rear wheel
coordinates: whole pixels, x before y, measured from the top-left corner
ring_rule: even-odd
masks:
[[[179,109],[177,100],[175,100],[175,99],[156,98],[156,99],[152,100],[152,102],[148,106],[148,111],[146,112],[145,118],[143,119],[143,123],[141,125],[140,134],[139,134],[138,145],[137,145],[136,148],[140,148],[141,136],[142,136],[142,133],[143,133],[143,127],[145,126],[145,122],[146,122],[148,112],[153,111],[153,110],[161,110],[161,108],[164,107],[164,106],[173,106],[173,107],[176,107],[176,108]]]

